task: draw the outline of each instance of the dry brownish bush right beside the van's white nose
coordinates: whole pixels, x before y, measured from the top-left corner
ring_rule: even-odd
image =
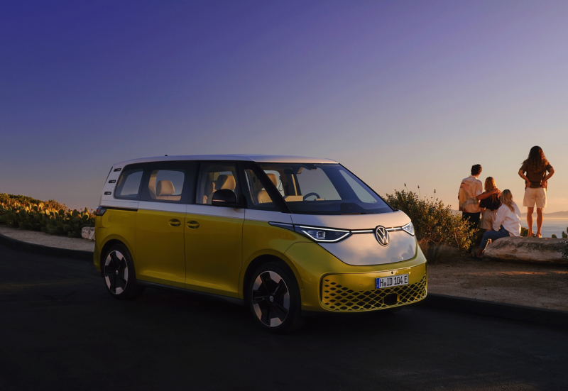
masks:
[[[438,199],[420,199],[415,192],[395,190],[395,194],[386,194],[386,201],[408,214],[420,243],[462,250],[471,247],[475,231]]]

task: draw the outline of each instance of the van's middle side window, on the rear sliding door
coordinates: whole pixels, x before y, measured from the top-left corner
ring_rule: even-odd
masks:
[[[179,167],[179,168],[178,168]],[[162,169],[163,168],[163,169]],[[143,201],[185,202],[182,197],[187,182],[187,170],[182,165],[167,167],[158,164],[148,165],[148,176],[144,180],[142,190]]]

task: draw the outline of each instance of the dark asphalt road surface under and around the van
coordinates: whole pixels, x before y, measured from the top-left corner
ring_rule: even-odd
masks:
[[[0,390],[567,390],[568,330],[427,307],[316,316],[147,288],[113,299],[92,263],[0,246]]]

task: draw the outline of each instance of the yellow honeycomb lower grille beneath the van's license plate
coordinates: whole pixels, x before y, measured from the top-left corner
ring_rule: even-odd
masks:
[[[334,275],[327,275],[322,283],[322,304],[326,309],[346,312],[398,307],[424,299],[426,281],[425,275],[416,284],[359,291],[340,285],[334,281]]]

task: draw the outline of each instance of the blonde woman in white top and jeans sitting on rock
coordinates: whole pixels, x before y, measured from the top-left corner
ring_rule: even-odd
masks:
[[[499,238],[508,236],[520,236],[520,210],[513,201],[513,194],[511,194],[509,189],[503,190],[500,199],[501,206],[497,209],[493,230],[484,233],[479,249],[473,255],[474,258],[481,259],[481,255],[483,255],[487,242],[490,239],[491,241],[496,241]]]

